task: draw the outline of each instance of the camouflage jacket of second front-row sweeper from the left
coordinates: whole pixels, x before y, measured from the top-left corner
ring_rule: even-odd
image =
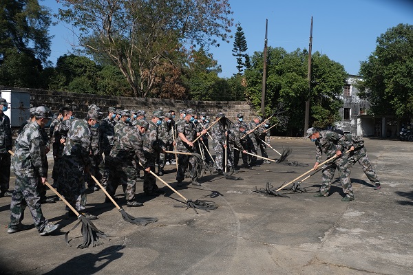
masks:
[[[67,132],[66,145],[63,149],[63,155],[76,157],[79,163],[85,166],[90,164],[90,142],[92,134],[90,126],[85,119],[72,120],[70,129]]]

